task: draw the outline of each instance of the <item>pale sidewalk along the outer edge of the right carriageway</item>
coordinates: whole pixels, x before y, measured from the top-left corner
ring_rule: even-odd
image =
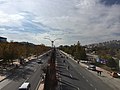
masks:
[[[73,61],[75,61],[69,54],[65,53],[62,51],[62,53],[64,53],[66,56],[68,56],[69,58],[71,58]],[[77,63],[77,61],[75,61]],[[79,63],[82,67],[87,69],[87,65],[85,63]],[[110,72],[102,69],[100,67],[96,67],[97,70],[102,71],[101,76],[97,75],[96,71],[91,71],[88,70],[89,72],[91,72],[93,75],[95,75],[96,77],[100,78],[104,83],[108,84],[110,87],[114,88],[114,90],[120,90],[120,78],[114,78],[110,75]]]

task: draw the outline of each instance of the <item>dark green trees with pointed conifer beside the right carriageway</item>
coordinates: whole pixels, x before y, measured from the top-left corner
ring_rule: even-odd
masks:
[[[80,42],[78,41],[77,44],[71,45],[71,46],[60,46],[59,49],[63,50],[64,52],[71,54],[75,59],[79,60],[86,60],[86,52],[85,48],[80,45]]]

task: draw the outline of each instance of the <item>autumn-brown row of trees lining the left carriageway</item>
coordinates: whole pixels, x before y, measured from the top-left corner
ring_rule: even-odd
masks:
[[[13,64],[15,59],[29,57],[31,55],[40,55],[50,48],[45,45],[34,45],[31,43],[3,42],[0,43],[0,61],[1,65]]]

